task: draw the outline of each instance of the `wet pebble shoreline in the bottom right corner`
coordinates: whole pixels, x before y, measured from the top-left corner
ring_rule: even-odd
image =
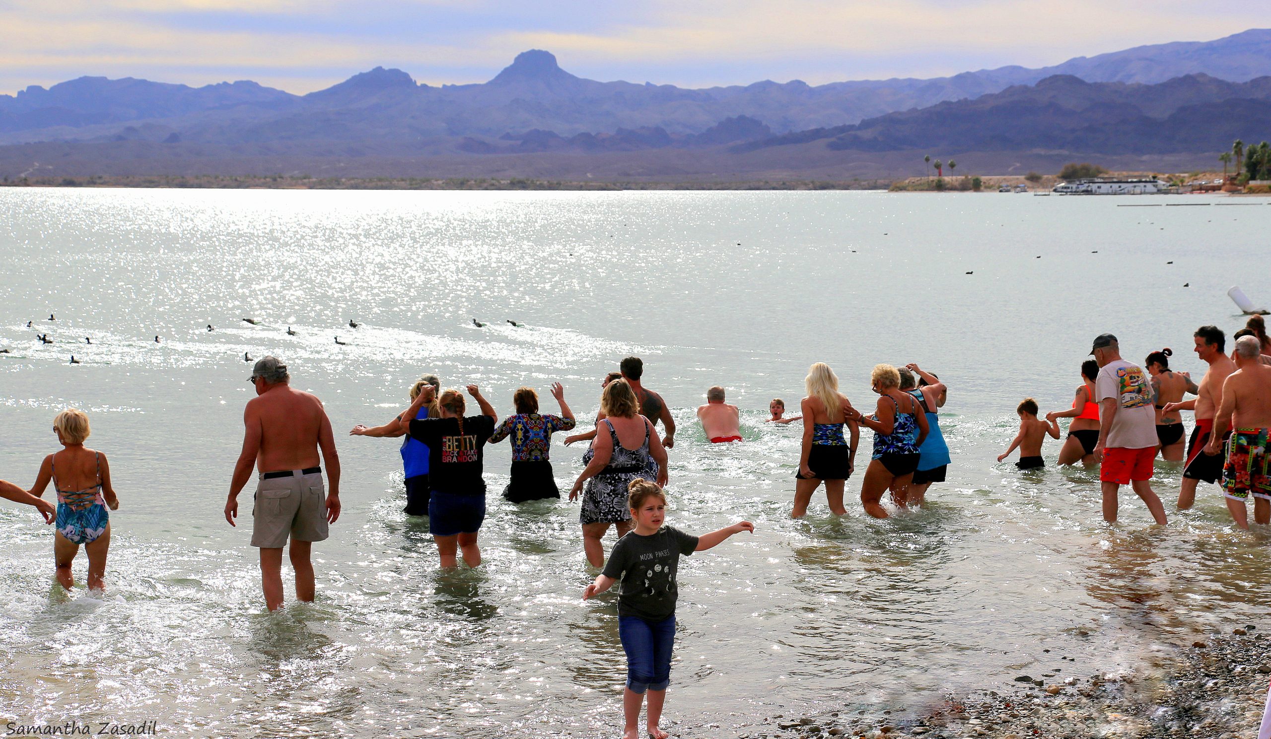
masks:
[[[1043,650],[1049,653],[1050,650]],[[1254,626],[1177,648],[1152,673],[1077,677],[1060,669],[1014,678],[1012,688],[949,696],[934,711],[887,722],[849,711],[778,715],[737,739],[1256,739],[1271,682],[1271,636]]]

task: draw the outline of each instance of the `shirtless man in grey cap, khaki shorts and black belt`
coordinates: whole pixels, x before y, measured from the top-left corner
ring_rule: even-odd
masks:
[[[252,507],[252,546],[261,549],[261,585],[269,611],[282,607],[282,547],[291,537],[296,598],[314,599],[313,542],[327,538],[327,524],[339,518],[339,457],[330,420],[315,396],[292,390],[287,366],[273,357],[255,363],[248,382],[257,397],[247,403],[247,434],[234,466],[225,521],[236,526],[238,494],[252,467],[261,472]],[[318,449],[327,462],[330,493],[323,496]]]

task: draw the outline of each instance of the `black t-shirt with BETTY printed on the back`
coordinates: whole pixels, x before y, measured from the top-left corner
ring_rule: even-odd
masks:
[[[486,442],[494,433],[494,419],[469,415],[459,433],[456,418],[412,420],[411,438],[428,444],[428,486],[454,495],[484,495],[482,460]],[[1153,432],[1155,433],[1155,432]]]

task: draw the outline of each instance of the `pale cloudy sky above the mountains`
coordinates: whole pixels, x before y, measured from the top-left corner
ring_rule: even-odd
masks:
[[[291,93],[482,83],[529,48],[688,88],[930,77],[1271,28],[1267,0],[0,0],[0,94],[83,75]]]

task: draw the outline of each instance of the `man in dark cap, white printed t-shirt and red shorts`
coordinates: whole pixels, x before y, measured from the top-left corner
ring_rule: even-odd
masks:
[[[1121,358],[1121,348],[1112,334],[1097,336],[1091,354],[1099,364],[1099,376],[1094,381],[1094,399],[1099,404],[1099,443],[1094,446],[1094,453],[1103,452],[1099,466],[1103,521],[1116,521],[1117,491],[1121,485],[1130,485],[1148,504],[1157,523],[1164,526],[1166,508],[1148,485],[1157,456],[1157,411],[1152,405],[1148,373]]]

